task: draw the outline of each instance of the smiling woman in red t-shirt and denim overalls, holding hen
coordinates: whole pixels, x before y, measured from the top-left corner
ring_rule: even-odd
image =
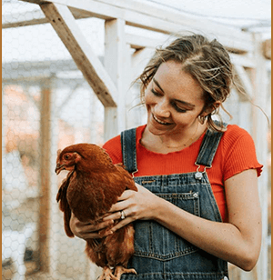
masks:
[[[251,270],[258,260],[261,214],[258,164],[248,133],[214,122],[233,83],[227,51],[202,35],[158,49],[140,75],[147,125],[104,148],[134,175],[99,225],[71,219],[82,238],[119,219],[135,222],[137,275],[122,279],[223,279],[227,262]]]

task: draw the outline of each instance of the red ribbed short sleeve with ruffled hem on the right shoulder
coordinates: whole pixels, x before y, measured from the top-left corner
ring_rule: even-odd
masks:
[[[229,131],[228,131],[228,126]],[[224,181],[244,170],[256,169],[259,176],[263,165],[258,163],[254,141],[248,132],[238,125],[228,125],[223,135]]]

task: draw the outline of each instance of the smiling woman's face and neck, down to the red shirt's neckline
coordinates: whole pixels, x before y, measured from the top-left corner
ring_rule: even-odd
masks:
[[[206,129],[197,119],[198,115],[207,115],[203,112],[203,89],[178,62],[171,60],[159,66],[145,91],[145,104],[147,133],[142,144],[150,150],[154,146],[186,147],[191,144],[189,139],[198,138]]]

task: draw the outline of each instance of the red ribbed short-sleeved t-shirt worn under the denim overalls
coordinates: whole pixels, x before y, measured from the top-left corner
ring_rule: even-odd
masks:
[[[135,176],[171,175],[197,171],[197,155],[204,135],[192,145],[178,152],[158,154],[147,150],[140,144],[146,125],[136,128]],[[120,135],[110,139],[103,146],[114,164],[122,163]],[[217,205],[224,222],[227,222],[227,202],[224,182],[244,170],[257,169],[258,176],[263,165],[257,160],[255,145],[248,132],[238,125],[227,125],[227,131],[221,138],[212,167],[207,168],[207,176],[215,195]]]

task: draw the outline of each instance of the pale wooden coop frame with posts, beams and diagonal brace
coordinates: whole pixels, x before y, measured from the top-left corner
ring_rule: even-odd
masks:
[[[264,105],[264,85],[266,84],[264,69],[266,58],[271,58],[271,40],[267,40],[263,43],[258,36],[239,31],[233,27],[212,23],[195,16],[184,15],[175,10],[166,10],[160,6],[140,4],[135,0],[22,1],[39,5],[45,16],[37,10],[34,12],[35,15],[26,13],[25,15],[27,15],[27,17],[21,17],[20,15],[10,18],[5,17],[3,28],[45,23],[50,23],[54,27],[57,35],[59,35],[66,45],[78,69],[82,71],[87,83],[106,108],[106,140],[117,135],[121,130],[129,126],[129,124],[126,124],[125,118],[125,96],[126,86],[128,85],[126,82],[126,77],[128,77],[127,65],[132,64],[138,66],[141,61],[142,67],[147,62],[147,59],[144,58],[150,54],[155,46],[161,44],[159,40],[147,38],[147,36],[126,34],[126,25],[144,28],[163,35],[177,35],[180,32],[197,32],[205,33],[210,38],[217,37],[230,51],[231,60],[233,65],[235,65],[235,71],[238,75],[238,81],[244,88],[245,93],[251,100],[254,100],[257,105]],[[106,20],[106,55],[104,65],[96,55],[93,54],[91,48],[86,43],[85,36],[76,25],[76,19],[86,17],[97,17]],[[133,55],[130,55],[130,48],[136,50]],[[113,58],[115,59],[113,60]],[[249,76],[246,68],[252,69],[250,72],[253,74],[254,79]],[[45,91],[45,100],[48,101],[49,96],[49,92]],[[49,112],[48,102],[45,103],[44,110],[45,113]],[[260,118],[261,115],[257,114],[255,111],[253,122],[256,125],[254,125],[253,137],[257,144],[259,160],[266,162],[267,145],[265,143],[265,137],[260,139],[260,135],[267,134],[267,126],[258,125],[258,119]],[[44,121],[47,122],[46,120]],[[48,140],[48,123],[44,125],[45,131],[42,132],[44,135],[43,138],[45,137],[45,139]],[[50,149],[48,143],[43,142],[42,145],[46,146],[46,150]],[[47,155],[49,155],[49,153]],[[45,155],[45,161],[47,160]],[[41,171],[42,185],[45,185],[45,188],[49,188],[50,186],[47,183],[43,183],[44,176],[45,174]],[[267,178],[264,177],[259,183],[260,194],[263,199],[265,199],[264,194],[266,194],[267,185]],[[46,194],[48,194],[46,192],[48,192],[48,190],[44,189],[43,192],[45,192],[45,196],[41,203],[45,205],[45,215],[47,215],[46,219],[48,219],[49,214],[46,210],[49,207],[49,199],[47,199],[46,202],[46,197],[48,196],[46,196]],[[263,220],[267,217],[265,207],[267,207],[267,205],[263,206]],[[41,208],[41,211],[44,210]],[[44,222],[46,222],[46,220]],[[44,222],[42,221],[41,223]],[[42,226],[44,225],[41,224],[41,228]],[[48,225],[46,224],[45,227],[46,226]],[[257,266],[259,280],[267,280],[266,230],[267,228],[264,228],[264,243],[261,258]],[[47,238],[48,236],[45,231],[45,238],[42,240],[45,253],[45,258],[41,258],[42,267],[48,267],[46,257],[50,257],[48,246],[46,245]],[[243,275],[244,274],[242,274],[242,277]]]

